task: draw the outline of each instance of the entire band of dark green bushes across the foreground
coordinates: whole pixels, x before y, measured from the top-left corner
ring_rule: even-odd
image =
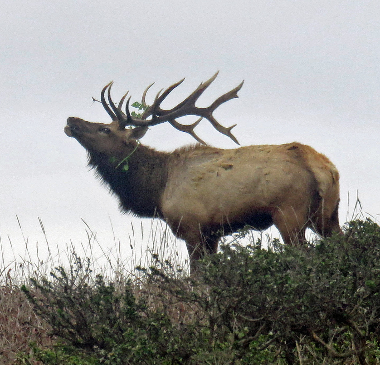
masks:
[[[185,278],[157,256],[139,281],[89,262],[23,288],[59,346],[45,364],[379,364],[380,227],[347,225],[309,247],[222,246]],[[24,356],[26,361],[28,356]]]

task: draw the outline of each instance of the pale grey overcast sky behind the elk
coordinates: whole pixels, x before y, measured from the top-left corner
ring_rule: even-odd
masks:
[[[16,214],[29,250],[35,253],[38,242],[42,258],[38,217],[51,249],[86,246],[83,219],[103,250],[114,247],[115,237],[130,255],[130,222],[136,230],[140,221],[120,214],[88,171],[84,149],[63,133],[68,116],[110,121],[91,98],[111,80],[114,99],[130,90],[133,101],[155,82],[149,101],[185,77],[164,104],[170,107],[217,70],[199,106],[244,79],[239,99],[214,113],[225,126],[237,124],[241,145],[312,146],[340,171],[340,223],[351,216],[356,194],[363,211],[379,219],[378,0],[19,0],[2,3],[0,28],[5,260],[25,251]],[[213,146],[236,147],[207,121],[196,131]],[[153,127],[142,140],[167,151],[192,142],[168,125]],[[151,222],[143,225],[149,230]]]

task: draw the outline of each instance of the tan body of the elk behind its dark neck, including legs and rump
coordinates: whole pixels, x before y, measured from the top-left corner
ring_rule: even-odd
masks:
[[[180,163],[172,166],[161,207],[195,259],[207,233],[229,223],[244,225],[255,214],[271,215],[287,244],[304,241],[307,227],[321,235],[340,230],[333,217],[339,174],[310,146],[199,146],[178,152]]]

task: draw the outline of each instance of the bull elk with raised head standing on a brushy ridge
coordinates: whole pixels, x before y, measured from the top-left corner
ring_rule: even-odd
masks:
[[[218,239],[247,225],[264,230],[274,224],[289,245],[304,242],[307,227],[321,236],[340,232],[339,174],[326,156],[298,142],[220,149],[206,145],[195,134],[194,128],[205,118],[239,144],[231,133],[236,124],[223,127],[212,113],[237,98],[243,82],[209,107],[195,106],[217,74],[169,110],[160,105],[184,79],[161,90],[148,107],[145,99],[150,85],[142,94],[146,109],[141,118],[131,116],[130,97],[122,111],[127,94],[114,104],[110,82],[101,91],[101,104],[112,122],[70,117],[65,133],[87,150],[89,165],[117,195],[122,211],[159,217],[184,239],[192,272],[204,253],[216,252]],[[190,125],[180,124],[176,119],[185,115],[200,118]],[[198,143],[171,153],[139,143],[148,127],[164,122],[189,133]]]

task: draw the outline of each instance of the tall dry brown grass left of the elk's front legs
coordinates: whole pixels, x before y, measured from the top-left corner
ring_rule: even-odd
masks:
[[[173,238],[165,223],[160,220],[152,220],[149,237],[144,236],[142,226],[132,226],[132,234],[128,238],[131,249],[129,258],[122,257],[120,241],[116,238],[114,238],[112,249],[103,250],[107,244],[98,242],[96,232],[86,222],[84,223],[88,242],[86,245],[81,244],[82,254],[80,256],[89,257],[93,272],[104,275],[105,278],[114,282],[119,290],[123,290],[123,285],[128,279],[132,279],[136,283],[136,297],[147,295],[148,288],[142,289],[144,283],[139,277],[141,272],[137,271],[135,267],[152,265],[153,257],[156,257],[153,252],[158,252],[163,261],[170,260],[177,268],[182,267],[184,272],[188,271],[188,263],[182,259],[178,249],[179,240],[176,241]],[[45,234],[41,221],[40,224]],[[20,223],[19,227],[22,232]],[[13,262],[6,263],[2,255],[2,262],[0,262],[0,365],[13,365],[18,354],[30,353],[29,344],[32,342],[40,347],[54,345],[54,339],[48,334],[49,326],[33,313],[30,303],[19,288],[23,284],[30,287],[29,277],[49,277],[49,272],[54,271],[54,267],[70,267],[73,260],[74,247],[72,244],[67,245],[63,251],[57,252],[54,256],[52,255],[54,248],[49,246],[46,239],[48,255],[42,259],[38,253],[34,257],[29,252],[28,239],[25,238],[23,232],[22,236],[25,247],[24,258],[15,257]],[[143,248],[146,241],[149,242],[151,248]],[[2,253],[9,249],[13,251],[12,242],[9,241],[11,247],[5,247],[1,236],[0,244]],[[99,257],[94,257],[94,247],[100,247],[101,255]],[[144,290],[144,294],[142,290]],[[156,305],[157,298],[154,298],[154,293],[149,295],[152,306]],[[176,311],[183,315],[184,308],[181,309],[180,305],[174,306],[173,315]],[[175,315],[174,318],[176,318]],[[31,361],[30,365],[41,364],[36,360]]]

